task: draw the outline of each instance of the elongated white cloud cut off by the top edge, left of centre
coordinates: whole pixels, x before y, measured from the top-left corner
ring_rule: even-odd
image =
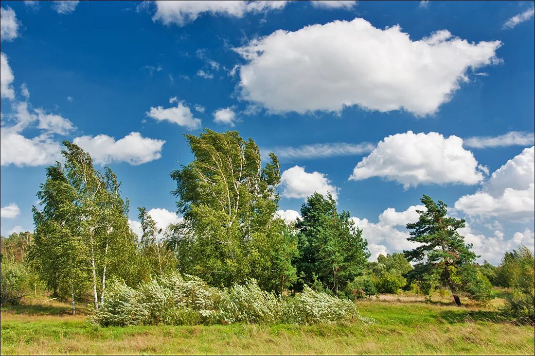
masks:
[[[288,1],[155,1],[157,10],[152,20],[164,25],[184,26],[201,14],[243,17],[246,13],[260,13],[282,9]]]

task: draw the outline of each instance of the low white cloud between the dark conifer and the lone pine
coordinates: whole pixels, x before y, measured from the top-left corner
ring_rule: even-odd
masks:
[[[418,244],[407,241],[410,236],[405,228],[407,223],[418,221],[416,210],[425,210],[423,205],[409,206],[407,210],[398,212],[388,208],[379,215],[379,222],[353,217],[355,225],[362,228],[362,237],[368,241],[371,252],[370,260],[377,260],[379,254],[402,252],[414,249]]]

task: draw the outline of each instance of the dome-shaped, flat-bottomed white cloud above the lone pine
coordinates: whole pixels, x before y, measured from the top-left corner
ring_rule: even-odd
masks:
[[[457,136],[414,134],[407,131],[385,137],[369,156],[358,162],[349,180],[383,177],[404,188],[418,184],[477,184],[485,167],[478,165],[472,152],[463,148]]]

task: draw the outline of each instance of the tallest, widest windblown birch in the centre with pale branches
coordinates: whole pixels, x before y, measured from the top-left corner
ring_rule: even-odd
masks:
[[[256,143],[237,131],[186,135],[193,161],[171,173],[184,222],[173,228],[170,246],[181,272],[210,285],[230,287],[255,278],[263,289],[280,290],[295,280],[288,261],[294,236],[277,218],[279,162],[261,166]]]

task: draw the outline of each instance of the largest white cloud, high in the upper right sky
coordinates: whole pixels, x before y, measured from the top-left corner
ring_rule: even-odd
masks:
[[[496,63],[500,41],[470,43],[447,30],[412,41],[400,26],[334,21],[277,30],[236,49],[241,96],[272,112],[340,111],[344,106],[432,114],[469,69]]]

